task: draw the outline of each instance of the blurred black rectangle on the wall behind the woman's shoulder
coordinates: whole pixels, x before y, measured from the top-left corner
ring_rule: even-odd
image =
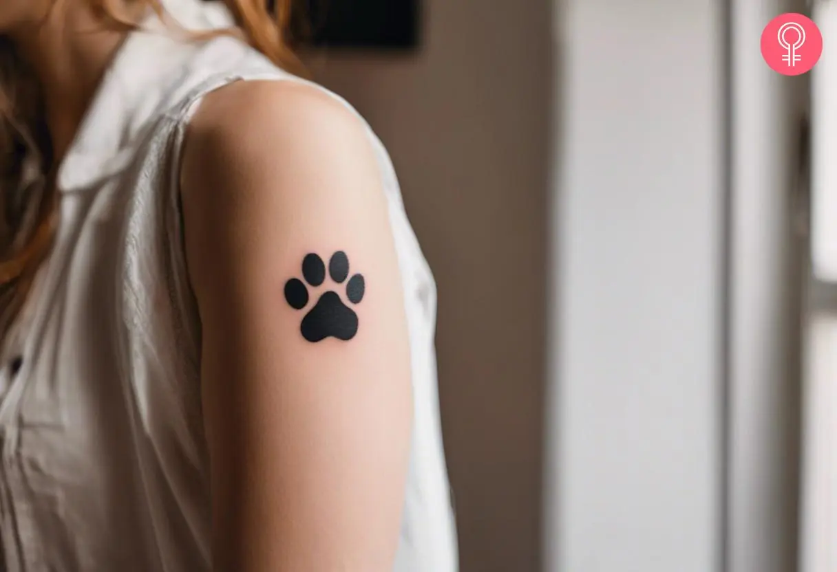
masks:
[[[307,0],[315,46],[413,49],[419,44],[419,0]]]

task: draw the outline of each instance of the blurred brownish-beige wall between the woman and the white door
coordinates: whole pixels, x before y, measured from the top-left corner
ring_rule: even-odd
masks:
[[[540,563],[549,4],[425,0],[419,54],[310,60],[391,151],[437,278],[463,572]]]

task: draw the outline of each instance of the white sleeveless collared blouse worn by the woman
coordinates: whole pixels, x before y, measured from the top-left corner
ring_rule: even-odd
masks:
[[[187,28],[231,23],[215,4],[164,3]],[[156,17],[145,28],[156,31],[132,33],[122,45],[59,170],[54,250],[3,348],[0,531],[8,572],[212,569],[199,321],[176,166],[204,94],[237,80],[302,80],[233,38],[186,43]],[[415,421],[394,571],[454,572],[434,280],[387,153],[369,133],[412,349]]]

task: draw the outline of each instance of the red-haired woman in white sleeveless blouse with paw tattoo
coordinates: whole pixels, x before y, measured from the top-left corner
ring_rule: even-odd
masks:
[[[454,570],[383,147],[286,2],[164,4],[0,5],[6,569]]]

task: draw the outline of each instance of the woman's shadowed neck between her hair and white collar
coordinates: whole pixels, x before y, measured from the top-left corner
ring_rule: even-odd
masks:
[[[56,3],[37,28],[11,34],[18,54],[32,69],[44,97],[46,125],[55,161],[72,143],[110,59],[126,37],[108,26],[90,3]]]

